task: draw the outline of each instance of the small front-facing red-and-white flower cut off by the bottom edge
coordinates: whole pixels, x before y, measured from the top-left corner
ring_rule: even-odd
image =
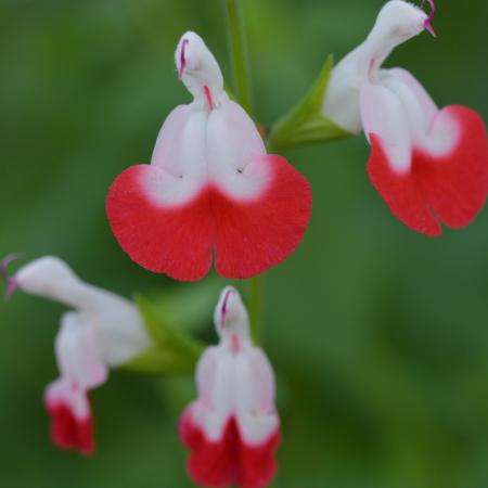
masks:
[[[197,399],[180,421],[181,439],[191,451],[188,471],[202,486],[266,487],[277,470],[281,438],[273,371],[251,342],[247,311],[234,288],[223,290],[215,323],[220,343],[202,356]]]

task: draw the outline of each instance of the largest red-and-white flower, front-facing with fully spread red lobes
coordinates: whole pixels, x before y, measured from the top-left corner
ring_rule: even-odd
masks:
[[[183,35],[175,57],[193,102],[168,116],[151,165],[132,166],[113,183],[112,230],[137,264],[177,280],[202,279],[213,254],[223,277],[262,273],[298,246],[310,187],[284,158],[266,154],[196,34]]]

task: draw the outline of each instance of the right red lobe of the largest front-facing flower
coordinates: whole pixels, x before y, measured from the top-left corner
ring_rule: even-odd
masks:
[[[269,187],[256,200],[211,195],[216,268],[224,278],[247,279],[283,261],[300,243],[311,215],[308,181],[286,159],[264,155],[249,165],[269,165]]]

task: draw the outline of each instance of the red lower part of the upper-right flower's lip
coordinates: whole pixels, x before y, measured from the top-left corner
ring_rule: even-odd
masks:
[[[388,163],[383,141],[371,134],[368,175],[390,210],[408,227],[428,236],[439,235],[439,221],[459,229],[470,224],[488,195],[488,140],[481,117],[452,105],[439,112],[457,123],[459,141],[446,155],[415,149],[412,169],[398,176]]]

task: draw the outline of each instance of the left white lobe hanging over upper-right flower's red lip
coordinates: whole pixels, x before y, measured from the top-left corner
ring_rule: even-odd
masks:
[[[403,105],[396,93],[381,85],[364,81],[360,91],[364,134],[380,136],[389,164],[398,174],[410,169],[412,144]]]

